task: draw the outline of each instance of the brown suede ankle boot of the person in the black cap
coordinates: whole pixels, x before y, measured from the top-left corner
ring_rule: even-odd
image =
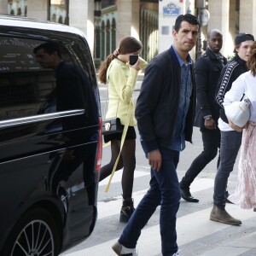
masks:
[[[233,218],[225,209],[220,209],[213,205],[210,219],[224,224],[241,225],[241,220]]]

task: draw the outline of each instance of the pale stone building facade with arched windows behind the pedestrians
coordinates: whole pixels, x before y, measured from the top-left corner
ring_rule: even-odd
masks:
[[[210,14],[207,25],[201,27],[201,41],[209,30],[218,28],[224,35],[225,56],[232,55],[238,32],[256,36],[255,0],[0,0],[0,13],[78,27],[99,65],[128,35],[143,42],[143,58],[150,61],[172,44],[177,15],[198,15],[201,2]],[[194,58],[196,52],[192,52]]]

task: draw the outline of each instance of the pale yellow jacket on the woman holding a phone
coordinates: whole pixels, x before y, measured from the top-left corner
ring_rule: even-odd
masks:
[[[147,67],[148,62],[139,57],[141,69]],[[131,108],[130,126],[137,125],[135,119],[135,102],[132,98],[133,90],[137,81],[137,70],[127,66],[123,61],[114,59],[111,61],[107,71],[108,83],[108,112],[106,119],[118,117],[122,125],[125,125],[125,119],[129,106]]]

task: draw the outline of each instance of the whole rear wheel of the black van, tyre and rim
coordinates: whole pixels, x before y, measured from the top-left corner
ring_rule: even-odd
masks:
[[[15,224],[2,255],[55,256],[59,252],[59,242],[54,218],[43,208],[35,208]]]

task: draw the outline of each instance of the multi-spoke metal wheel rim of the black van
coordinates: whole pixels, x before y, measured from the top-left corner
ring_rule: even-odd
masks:
[[[49,225],[33,220],[20,231],[11,256],[54,256],[54,238]]]

